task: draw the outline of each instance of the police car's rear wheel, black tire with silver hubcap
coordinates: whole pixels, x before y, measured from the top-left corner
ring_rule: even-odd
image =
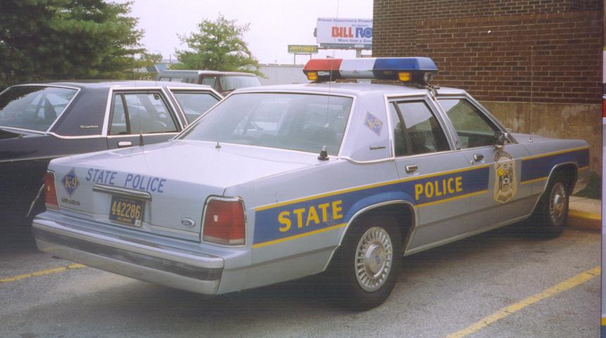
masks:
[[[392,217],[356,221],[332,264],[339,303],[355,311],[383,304],[400,272],[401,243]]]

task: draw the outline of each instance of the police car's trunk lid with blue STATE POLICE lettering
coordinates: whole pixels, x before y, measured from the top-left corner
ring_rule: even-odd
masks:
[[[66,212],[199,240],[209,196],[222,196],[230,186],[317,163],[313,154],[293,157],[284,150],[265,149],[251,156],[250,152],[250,147],[241,145],[215,148],[208,142],[176,141],[64,157],[53,160],[49,169],[55,172],[58,201]],[[139,206],[141,223],[128,217],[116,219],[112,208],[125,203],[132,204],[127,205],[127,216]]]

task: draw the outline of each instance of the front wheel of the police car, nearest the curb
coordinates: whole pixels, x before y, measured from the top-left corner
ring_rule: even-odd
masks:
[[[557,238],[564,230],[568,216],[569,188],[566,181],[555,176],[548,183],[529,223],[531,235]]]

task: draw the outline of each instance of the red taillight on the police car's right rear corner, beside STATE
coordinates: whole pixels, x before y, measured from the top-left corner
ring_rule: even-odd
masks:
[[[243,245],[245,223],[244,204],[241,201],[211,198],[206,204],[202,240],[224,245]]]

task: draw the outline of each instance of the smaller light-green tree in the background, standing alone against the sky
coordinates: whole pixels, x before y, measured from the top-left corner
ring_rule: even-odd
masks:
[[[253,57],[244,41],[244,33],[250,24],[236,25],[236,20],[227,20],[219,15],[217,20],[202,20],[199,32],[179,35],[189,51],[177,50],[179,63],[172,69],[249,71],[259,72],[259,62]],[[254,70],[250,70],[254,67]]]

